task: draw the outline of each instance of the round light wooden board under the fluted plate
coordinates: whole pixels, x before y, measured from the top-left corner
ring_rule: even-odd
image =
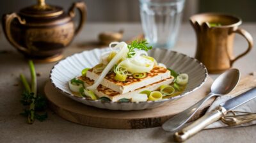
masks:
[[[209,77],[200,89],[180,98],[176,102],[166,103],[156,109],[131,111],[98,109],[84,105],[61,94],[52,86],[51,82],[45,84],[44,91],[49,100],[50,108],[63,119],[99,128],[132,129],[161,126],[170,117],[188,109],[191,105],[201,100],[209,93],[211,84],[212,79]],[[213,101],[214,98],[205,103],[191,120],[202,116]]]

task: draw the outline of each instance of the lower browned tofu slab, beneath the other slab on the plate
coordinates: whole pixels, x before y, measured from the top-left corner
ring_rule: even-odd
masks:
[[[84,86],[91,86],[93,84],[93,80],[90,80],[88,77],[78,77],[78,79],[83,80],[84,82]],[[109,89],[106,86],[102,86],[100,85],[99,87],[97,87],[97,90],[94,92],[99,98],[102,96],[108,97],[109,99],[111,99],[113,102],[118,102],[118,100],[122,99],[122,98],[128,98],[131,99],[132,96],[134,96],[134,94],[136,93],[140,93],[141,91],[144,90],[149,90],[149,91],[155,91],[157,90],[160,86],[162,85],[168,85],[171,84],[173,82],[173,77],[170,77],[168,79],[164,79],[158,82],[154,82],[153,84],[149,84],[147,86],[143,86],[140,87],[134,91],[128,92],[128,93],[124,93],[124,94],[120,94],[117,91],[113,91],[112,89]]]

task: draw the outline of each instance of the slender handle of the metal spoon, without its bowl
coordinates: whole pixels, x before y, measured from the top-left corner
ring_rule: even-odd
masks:
[[[176,116],[173,116],[171,119],[168,119],[163,125],[163,130],[167,132],[174,132],[182,127],[188,120],[195,114],[195,112],[212,96],[218,96],[218,94],[209,93],[205,98],[200,100],[199,102],[195,103],[195,105],[189,107]]]

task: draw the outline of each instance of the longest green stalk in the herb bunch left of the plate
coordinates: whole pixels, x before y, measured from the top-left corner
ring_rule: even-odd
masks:
[[[33,61],[29,60],[29,69],[31,73],[31,93],[33,93],[33,99],[31,100],[31,104],[29,105],[29,116],[28,123],[32,124],[35,120],[35,99],[36,99],[36,72]]]

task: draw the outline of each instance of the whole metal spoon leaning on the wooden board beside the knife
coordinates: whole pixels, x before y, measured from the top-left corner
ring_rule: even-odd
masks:
[[[168,119],[163,125],[162,128],[168,132],[174,132],[182,127],[188,120],[195,114],[195,112],[211,97],[221,96],[223,94],[230,93],[239,82],[240,72],[239,70],[233,68],[227,70],[225,73],[222,73],[211,86],[211,93],[209,93],[205,98],[197,102],[195,105],[189,109],[180,112],[176,116],[173,116],[171,119]]]

